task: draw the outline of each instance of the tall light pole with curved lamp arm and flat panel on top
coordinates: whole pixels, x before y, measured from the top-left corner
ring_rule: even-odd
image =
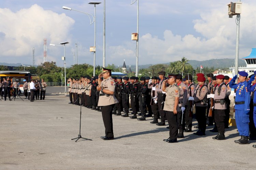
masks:
[[[81,13],[84,13],[86,14],[89,18],[91,15],[93,17],[93,22],[94,22],[94,47],[96,49],[96,22],[95,22],[95,19],[96,19],[96,4],[100,4],[101,2],[90,2],[89,4],[94,4],[94,16],[89,14],[89,13],[86,13],[86,12],[82,12],[82,11],[78,11],[78,10],[74,10],[70,7],[67,7],[67,6],[62,6],[63,9],[65,10],[73,10],[73,11],[77,11],[77,12],[81,12]],[[90,18],[90,25],[93,24],[93,22],[91,22],[91,18]],[[96,50],[93,51],[94,52],[94,64],[93,64],[93,76],[95,76],[95,60],[96,60]]]

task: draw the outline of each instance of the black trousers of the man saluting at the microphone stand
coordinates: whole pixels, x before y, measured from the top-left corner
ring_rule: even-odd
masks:
[[[114,138],[112,111],[114,105],[101,106],[101,114],[105,126],[105,137]]]

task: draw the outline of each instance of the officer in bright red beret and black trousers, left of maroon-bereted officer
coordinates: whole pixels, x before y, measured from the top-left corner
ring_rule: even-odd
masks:
[[[203,136],[205,135],[206,129],[206,117],[205,111],[207,107],[207,94],[208,88],[205,85],[205,77],[199,76],[197,77],[198,86],[194,97],[188,97],[188,100],[192,100],[196,103],[196,117],[198,122],[198,131],[195,132],[195,135]]]

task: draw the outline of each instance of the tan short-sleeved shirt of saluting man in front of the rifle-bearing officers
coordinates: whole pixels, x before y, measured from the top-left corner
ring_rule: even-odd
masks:
[[[165,98],[165,106],[163,107],[163,110],[173,112],[175,97],[180,97],[181,89],[175,83],[172,86],[167,87],[165,91],[166,91],[166,98]],[[176,109],[177,109],[177,112],[180,111],[179,105],[177,105]]]

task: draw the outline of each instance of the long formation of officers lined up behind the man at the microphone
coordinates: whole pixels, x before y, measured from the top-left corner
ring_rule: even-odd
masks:
[[[104,68],[104,70],[111,75],[110,69]],[[158,73],[158,77],[141,77],[140,81],[138,77],[133,76],[130,78],[116,78],[110,76],[112,82],[110,85],[115,87],[113,93],[113,97],[115,98],[114,101],[117,101],[113,105],[111,114],[115,114],[117,116],[120,115],[122,117],[130,117],[131,119],[137,119],[139,121],[144,121],[146,120],[146,117],[153,116],[154,120],[150,123],[156,124],[157,126],[165,126],[165,122],[167,120],[169,124],[169,127],[167,128],[170,129],[170,135],[169,138],[165,139],[164,141],[173,143],[177,142],[177,138],[184,138],[184,132],[192,131],[193,108],[195,105],[195,117],[198,121],[198,126],[195,126],[195,128],[198,128],[198,131],[194,134],[198,136],[205,135],[206,126],[212,126],[213,122],[215,122],[214,128],[210,131],[218,132],[218,135],[213,137],[213,139],[224,140],[225,128],[228,128],[229,121],[229,95],[231,93],[231,88],[237,88],[238,90],[236,91],[236,94],[239,97],[236,97],[235,101],[236,122],[241,139],[236,140],[235,142],[239,144],[248,143],[248,123],[250,121],[249,116],[247,117],[247,115],[249,115],[250,108],[247,108],[248,114],[239,114],[240,111],[238,109],[246,108],[242,105],[248,103],[249,105],[251,103],[251,105],[254,107],[253,100],[246,103],[243,102],[245,98],[241,98],[246,93],[251,94],[251,92],[254,92],[251,89],[255,90],[256,88],[256,83],[254,82],[255,80],[252,81],[252,78],[250,81],[253,82],[253,85],[255,86],[250,87],[250,91],[247,91],[245,85],[240,84],[241,82],[244,82],[240,77],[243,77],[246,80],[248,76],[247,73],[239,72],[241,75],[239,76],[239,84],[234,84],[234,79],[236,76],[229,82],[230,78],[228,76],[213,76],[213,74],[207,74],[209,82],[206,83],[204,74],[199,73],[197,74],[198,84],[194,84],[192,81],[193,77],[190,74],[186,75],[184,78],[180,74],[168,74],[168,77],[165,77],[165,74],[166,73],[164,71],[161,71]],[[72,80],[70,78],[68,80],[70,103],[80,105],[79,100],[82,99],[81,104],[83,106],[101,111],[100,106],[98,105],[101,92],[97,90],[97,87],[100,86],[98,84],[99,79],[100,82],[102,82],[103,76],[101,75],[100,78],[98,76],[93,78],[82,77],[76,80]],[[105,95],[104,97],[110,96],[111,95]],[[249,96],[252,96],[253,98],[254,94]],[[256,103],[256,97],[254,103]],[[132,116],[129,116],[130,105]],[[253,109],[251,109],[251,113],[253,115],[252,110]],[[139,114],[138,111],[140,111]],[[122,115],[121,112],[124,112],[124,114]],[[146,114],[147,112],[148,114]],[[210,117],[209,112],[211,112]],[[141,117],[137,118],[137,115],[141,115]],[[241,119],[239,119],[239,115]],[[209,118],[208,123],[207,117]],[[256,115],[254,115],[254,117],[256,117]],[[161,121],[158,122],[158,119]],[[110,122],[112,122],[112,115]],[[250,139],[254,140],[256,138],[256,130],[253,122],[255,121],[251,122]],[[248,124],[248,128],[242,126],[246,123]],[[244,128],[248,130],[246,131]],[[110,129],[113,131],[113,125],[110,125]],[[111,135],[109,136],[108,134]],[[113,132],[110,130],[110,133],[106,133],[105,137],[106,138],[104,138],[104,140],[113,139]]]

